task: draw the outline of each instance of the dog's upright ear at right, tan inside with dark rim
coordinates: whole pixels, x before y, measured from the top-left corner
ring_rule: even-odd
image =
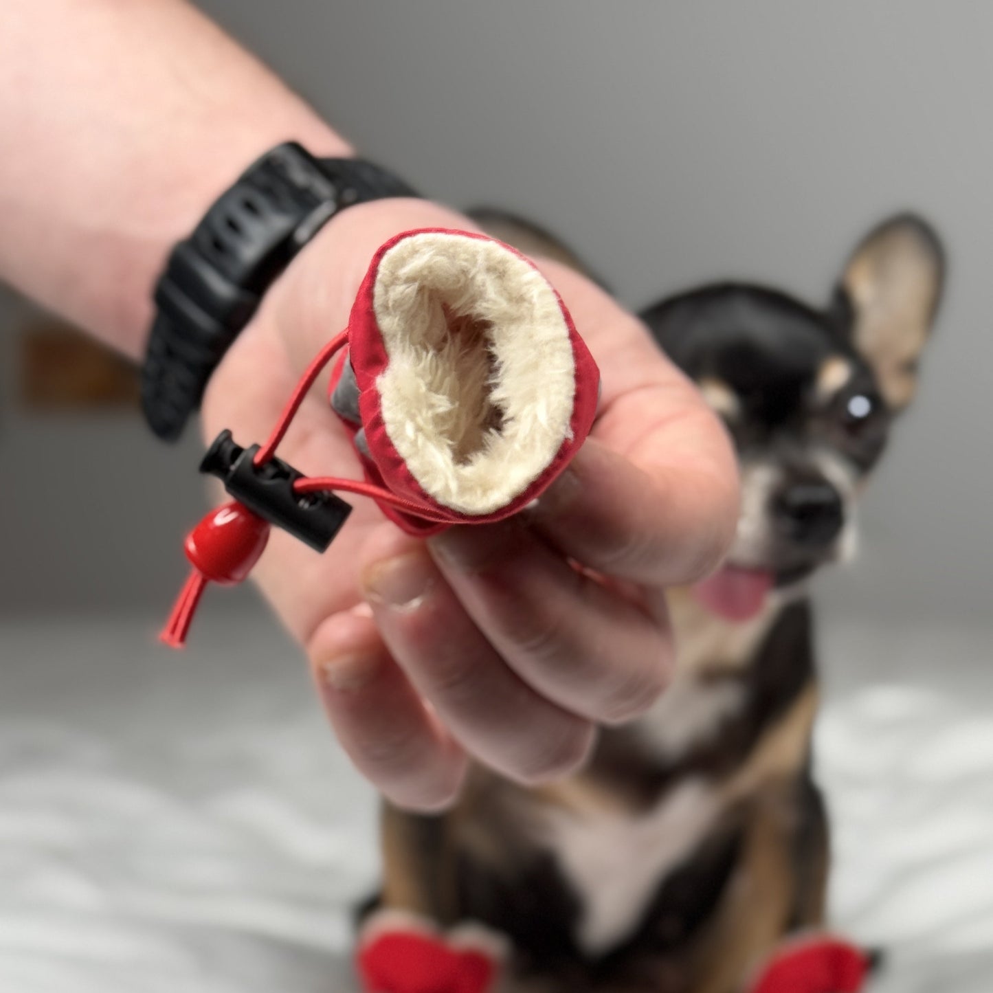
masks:
[[[944,252],[920,217],[883,221],[852,252],[837,290],[856,352],[892,410],[910,403],[944,281]]]

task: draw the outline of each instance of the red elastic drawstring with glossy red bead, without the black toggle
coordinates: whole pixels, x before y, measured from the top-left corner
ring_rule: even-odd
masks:
[[[263,465],[273,457],[317,377],[328,362],[345,347],[348,340],[349,332],[346,329],[332,339],[307,367],[279,415],[268,441],[255,453],[256,466]],[[342,480],[332,476],[308,477],[297,480],[293,490],[298,494],[329,490],[354,493],[389,503],[426,520],[445,520],[440,514],[435,514],[412,500],[397,497],[388,490],[361,480]],[[241,582],[258,561],[268,537],[268,522],[236,500],[208,513],[187,537],[186,554],[193,563],[193,572],[173,605],[169,620],[159,636],[160,640],[170,647],[182,648],[208,582],[221,585]]]

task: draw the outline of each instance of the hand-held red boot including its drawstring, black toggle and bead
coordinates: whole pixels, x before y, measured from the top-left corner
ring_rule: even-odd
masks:
[[[276,457],[336,356],[332,406],[364,480],[307,477]],[[207,581],[243,579],[268,525],[325,551],[351,510],[338,492],[371,497],[412,534],[515,513],[586,440],[599,387],[568,311],[522,255],[466,231],[398,234],[376,252],[348,329],[315,356],[265,444],[242,447],[223,431],[211,446],[201,472],[234,497],[237,526],[215,526],[212,511],[196,530],[196,570],[162,639],[185,643]]]

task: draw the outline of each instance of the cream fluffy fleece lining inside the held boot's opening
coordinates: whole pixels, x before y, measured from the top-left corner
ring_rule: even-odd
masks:
[[[569,437],[575,361],[555,293],[495,241],[429,232],[379,264],[386,433],[425,493],[485,514],[519,496]]]

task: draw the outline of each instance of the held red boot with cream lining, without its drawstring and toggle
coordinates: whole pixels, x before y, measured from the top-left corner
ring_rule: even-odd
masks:
[[[600,374],[558,294],[513,248],[406,231],[375,254],[332,406],[404,530],[498,520],[537,497],[585,440]]]

